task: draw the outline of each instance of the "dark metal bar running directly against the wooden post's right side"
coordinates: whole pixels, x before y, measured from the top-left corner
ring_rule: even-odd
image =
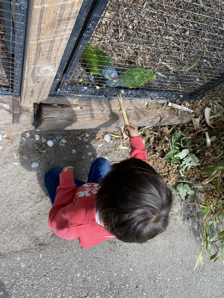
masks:
[[[85,26],[85,20],[88,19],[88,14],[91,12],[91,6],[93,5],[93,2],[94,2],[93,0],[83,0],[82,2],[81,8],[79,10],[79,14],[76,18],[70,38],[65,48],[65,52],[63,53],[59,68],[57,70],[57,74],[51,86],[50,93],[55,92],[55,90],[57,89],[57,86],[58,85],[61,86],[62,82],[65,79],[65,76],[62,77],[63,70],[65,69],[65,66],[67,65],[68,61],[70,61],[73,57],[72,51],[74,48],[74,44],[76,40],[78,40],[77,37],[79,35],[79,32],[83,31],[82,27]],[[94,3],[94,6],[95,6],[95,3]]]

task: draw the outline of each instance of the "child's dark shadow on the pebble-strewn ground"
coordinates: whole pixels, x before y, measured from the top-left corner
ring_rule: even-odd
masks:
[[[67,131],[53,132],[52,134],[46,131],[24,132],[19,146],[20,164],[28,172],[36,172],[37,176],[35,179],[35,175],[32,173],[29,175],[24,172],[22,174],[24,179],[37,181],[44,193],[47,194],[44,185],[47,171],[56,166],[73,166],[74,178],[87,181],[91,162],[96,159],[96,150],[91,145],[91,134],[83,136],[81,134],[81,137],[78,134],[78,136],[79,138],[77,132]],[[52,143],[53,146],[49,147]]]

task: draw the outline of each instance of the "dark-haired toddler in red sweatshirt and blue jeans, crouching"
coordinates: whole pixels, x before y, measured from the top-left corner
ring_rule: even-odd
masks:
[[[52,208],[49,227],[61,238],[78,238],[90,248],[116,237],[144,243],[163,232],[172,206],[163,178],[147,163],[147,151],[137,127],[123,125],[131,158],[110,165],[97,158],[88,181],[73,178],[73,167],[54,167],[45,175]]]

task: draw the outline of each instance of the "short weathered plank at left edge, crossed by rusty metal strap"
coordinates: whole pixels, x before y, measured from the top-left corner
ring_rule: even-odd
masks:
[[[19,104],[19,124],[32,125],[33,123],[33,104],[22,105]],[[13,103],[11,96],[0,97],[0,124],[8,125],[13,123]],[[16,124],[15,124],[16,125]]]

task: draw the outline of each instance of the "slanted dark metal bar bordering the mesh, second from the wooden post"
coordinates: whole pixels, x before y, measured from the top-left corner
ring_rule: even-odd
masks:
[[[66,78],[63,83],[68,83],[72,73],[73,69],[76,67],[76,64],[79,62],[79,59],[81,58],[81,55],[88,44],[88,41],[90,40],[90,37],[93,34],[93,31],[99,21],[99,19],[102,16],[103,11],[105,10],[105,7],[107,5],[107,0],[97,0],[95,3],[95,7],[92,10],[92,13],[90,15],[90,18],[88,20],[86,27],[83,28],[83,32],[80,31],[79,35],[77,37],[75,46],[73,48],[73,58],[71,61],[68,61],[68,63],[65,66]]]

